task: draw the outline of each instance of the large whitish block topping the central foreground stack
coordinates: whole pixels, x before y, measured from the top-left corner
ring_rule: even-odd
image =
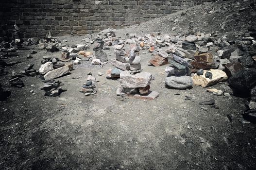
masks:
[[[129,71],[122,71],[119,81],[124,88],[137,88],[150,85],[151,79],[152,74],[149,72],[130,74]]]

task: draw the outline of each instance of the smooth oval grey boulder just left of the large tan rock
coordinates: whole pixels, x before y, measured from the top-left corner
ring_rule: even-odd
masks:
[[[191,87],[193,85],[193,81],[189,76],[171,76],[165,78],[165,83],[169,87],[184,89]]]

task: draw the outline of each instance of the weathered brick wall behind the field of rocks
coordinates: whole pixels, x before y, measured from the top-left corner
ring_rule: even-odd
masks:
[[[24,37],[122,28],[213,0],[0,0],[0,37],[17,24]]]

